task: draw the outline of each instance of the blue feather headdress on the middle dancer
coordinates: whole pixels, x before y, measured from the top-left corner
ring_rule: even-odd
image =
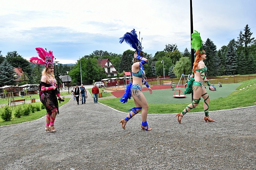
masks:
[[[135,29],[133,29],[131,32],[126,32],[126,34],[124,34],[123,37],[119,39],[120,39],[119,41],[120,43],[123,43],[123,41],[125,41],[128,45],[130,45],[133,49],[135,49],[137,54],[139,53],[144,54],[144,52],[142,52],[143,47],[141,45],[141,42],[138,40],[138,36],[136,34]]]

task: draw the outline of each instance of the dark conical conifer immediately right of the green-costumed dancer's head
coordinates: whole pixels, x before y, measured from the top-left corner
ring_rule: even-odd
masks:
[[[217,76],[220,70],[220,58],[217,55],[217,47],[212,40],[207,38],[203,44],[203,49],[206,51],[206,60],[204,61],[207,66],[207,76]]]

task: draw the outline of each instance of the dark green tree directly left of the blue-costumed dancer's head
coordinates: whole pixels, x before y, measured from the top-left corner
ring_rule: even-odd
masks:
[[[133,55],[134,55],[134,51],[128,49],[125,52],[123,52],[123,55],[121,57],[121,61],[119,64],[119,72],[130,72],[131,71],[131,67],[133,65]]]

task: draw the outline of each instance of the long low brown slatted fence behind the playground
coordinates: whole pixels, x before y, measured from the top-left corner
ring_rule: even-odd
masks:
[[[169,78],[170,76],[165,76],[165,79],[163,77],[157,78],[157,77],[148,77],[147,82],[150,85],[184,85],[187,81],[187,76],[180,78]],[[220,76],[220,77],[207,77],[209,82],[213,85],[215,84],[231,84],[231,83],[239,83],[250,79],[255,79],[256,75],[249,75],[249,76]],[[256,80],[255,80],[256,82]],[[206,83],[204,83],[206,84]]]

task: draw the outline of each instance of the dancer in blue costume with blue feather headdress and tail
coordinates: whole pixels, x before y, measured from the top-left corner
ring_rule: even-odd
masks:
[[[149,93],[152,94],[152,89],[149,87],[146,82],[145,71],[143,65],[148,62],[147,58],[144,58],[144,52],[142,51],[141,42],[137,38],[136,31],[133,29],[130,33],[127,32],[123,37],[120,38],[120,43],[126,41],[130,46],[136,49],[134,53],[133,65],[132,65],[132,75],[133,83],[129,83],[126,87],[125,94],[121,97],[120,101],[126,103],[128,99],[133,97],[136,107],[130,109],[131,112],[128,113],[126,118],[122,119],[119,123],[122,123],[123,129],[127,121],[129,121],[133,116],[139,113],[142,110],[142,130],[152,130],[148,127],[147,116],[148,116],[148,102],[142,93],[142,83],[146,85],[149,90]],[[139,54],[139,55],[138,55]],[[143,108],[143,109],[142,109]]]

